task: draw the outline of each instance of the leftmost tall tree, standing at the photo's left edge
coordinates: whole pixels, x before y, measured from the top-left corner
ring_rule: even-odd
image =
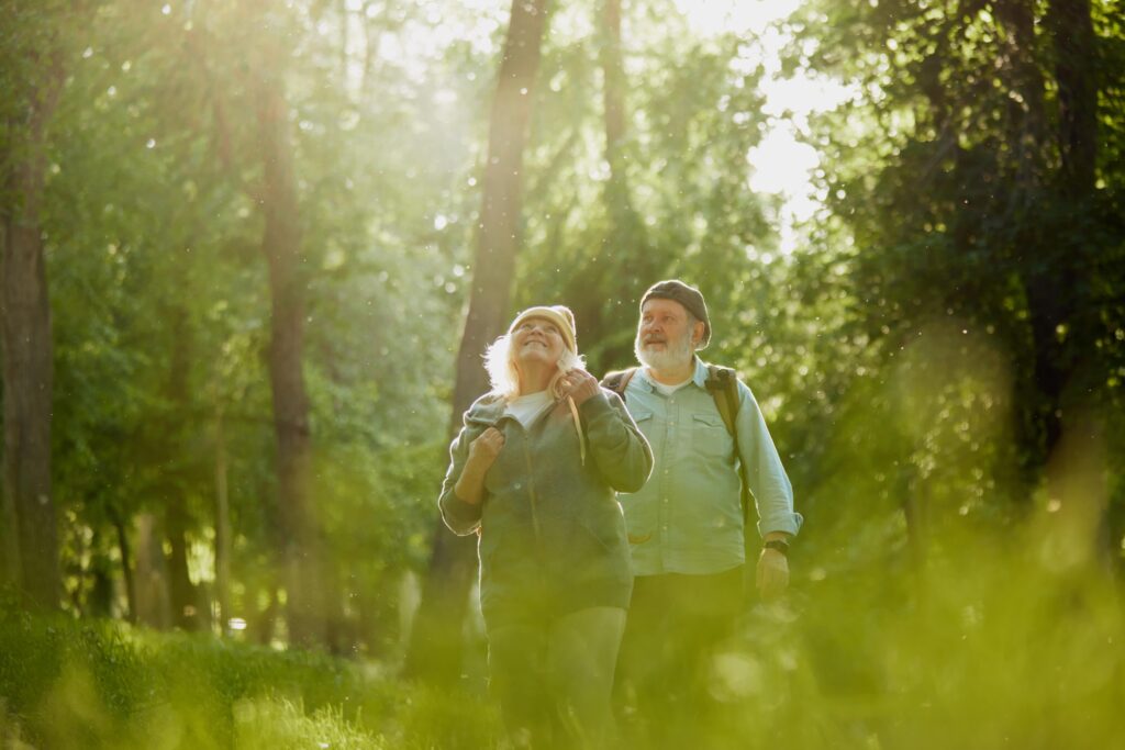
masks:
[[[58,530],[51,493],[53,354],[51,306],[40,210],[47,130],[66,76],[62,29],[74,20],[68,3],[4,3],[2,20],[17,30],[21,71],[14,103],[4,106],[0,136],[3,200],[4,503],[14,530],[4,530],[9,577],[43,608],[58,606]],[[6,43],[7,44],[7,43]],[[7,67],[7,66],[6,66]]]

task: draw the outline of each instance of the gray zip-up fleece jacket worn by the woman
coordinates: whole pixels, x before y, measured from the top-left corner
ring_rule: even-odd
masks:
[[[439,498],[453,533],[479,534],[486,624],[627,608],[632,570],[614,490],[636,493],[648,479],[652,452],[645,436],[605,389],[578,409],[585,445],[569,401],[551,405],[526,430],[504,407],[501,397],[486,395],[465,413]],[[453,487],[469,444],[492,426],[504,433],[504,446],[485,477],[484,501],[470,505]]]

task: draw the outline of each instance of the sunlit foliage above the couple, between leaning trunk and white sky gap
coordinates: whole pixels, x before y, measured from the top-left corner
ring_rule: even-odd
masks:
[[[758,274],[747,251],[776,243],[768,199],[747,189],[762,137],[758,80],[745,40],[695,38],[668,2],[630,8],[621,40],[621,163],[606,157],[597,3],[560,9],[546,42],[526,161],[525,250],[514,306],[564,301],[594,372],[632,360],[637,304],[683,275],[724,325]],[[649,15],[651,13],[651,15]],[[732,329],[734,326],[726,326]]]

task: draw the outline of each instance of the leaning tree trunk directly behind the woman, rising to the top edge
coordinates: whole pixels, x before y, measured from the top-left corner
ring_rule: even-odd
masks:
[[[539,70],[548,0],[513,0],[493,101],[485,164],[480,231],[469,311],[457,355],[450,433],[487,387],[480,354],[504,332],[515,255],[520,245],[523,151]],[[458,539],[438,521],[430,570],[414,620],[406,672],[452,681],[460,674],[461,625],[476,569],[475,537]]]

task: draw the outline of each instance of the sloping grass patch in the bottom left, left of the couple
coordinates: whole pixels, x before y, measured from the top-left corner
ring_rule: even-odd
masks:
[[[474,748],[495,714],[322,654],[0,615],[0,732],[46,747]]]

